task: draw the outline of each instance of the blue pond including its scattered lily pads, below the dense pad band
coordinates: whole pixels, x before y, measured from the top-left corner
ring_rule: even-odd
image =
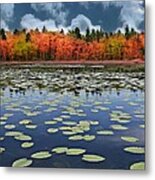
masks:
[[[1,87],[0,166],[132,169],[144,163],[144,89],[75,93],[50,84]]]

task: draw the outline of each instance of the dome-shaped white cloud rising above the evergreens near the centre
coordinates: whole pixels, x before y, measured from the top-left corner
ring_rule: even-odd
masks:
[[[101,28],[100,25],[93,25],[91,20],[83,14],[79,14],[74,19],[72,19],[71,25],[68,26],[67,29],[75,29],[76,27],[80,29],[81,33],[85,33],[87,28],[90,30],[99,30]]]

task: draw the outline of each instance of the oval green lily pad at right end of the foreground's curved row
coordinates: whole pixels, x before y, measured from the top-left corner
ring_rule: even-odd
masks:
[[[84,154],[82,160],[87,162],[102,162],[105,160],[105,157],[93,154]]]

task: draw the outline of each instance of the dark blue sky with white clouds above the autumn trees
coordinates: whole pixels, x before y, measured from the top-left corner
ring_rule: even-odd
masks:
[[[53,2],[1,4],[1,28],[5,30],[36,29],[68,30],[79,27],[115,32],[129,25],[144,31],[144,1]]]

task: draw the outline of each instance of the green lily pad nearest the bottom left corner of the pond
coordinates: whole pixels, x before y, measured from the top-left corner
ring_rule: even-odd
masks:
[[[16,167],[16,168],[28,167],[32,164],[32,162],[33,161],[31,159],[22,158],[14,161],[12,167]]]

